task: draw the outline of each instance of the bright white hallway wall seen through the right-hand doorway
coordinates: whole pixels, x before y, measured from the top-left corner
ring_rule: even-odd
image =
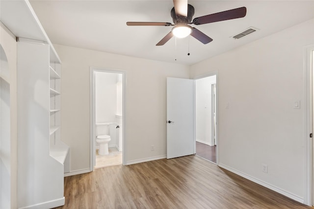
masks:
[[[216,75],[195,80],[195,127],[196,141],[214,145],[211,130],[211,85],[216,83]]]

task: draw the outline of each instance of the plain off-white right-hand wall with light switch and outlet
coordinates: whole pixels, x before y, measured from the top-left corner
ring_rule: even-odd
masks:
[[[218,71],[219,165],[299,200],[305,195],[304,46],[314,43],[313,25],[297,24],[190,72],[193,78]],[[301,109],[293,109],[295,101]]]

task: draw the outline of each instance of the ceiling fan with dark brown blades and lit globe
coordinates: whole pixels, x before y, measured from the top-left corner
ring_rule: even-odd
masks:
[[[202,33],[195,27],[191,27],[189,24],[207,24],[225,20],[232,20],[236,18],[243,18],[246,15],[246,7],[239,7],[223,12],[218,12],[202,17],[194,18],[194,7],[187,4],[187,0],[173,0],[174,7],[171,9],[170,15],[173,19],[173,23],[160,23],[160,22],[127,22],[129,26],[174,26],[171,31],[163,37],[156,46],[162,46],[169,41],[173,36],[177,38],[184,38],[188,35],[193,36],[203,44],[208,44],[212,39],[206,34]]]

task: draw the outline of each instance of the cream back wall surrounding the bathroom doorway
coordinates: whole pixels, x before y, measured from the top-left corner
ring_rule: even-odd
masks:
[[[166,77],[189,77],[189,67],[55,45],[62,60],[61,139],[71,171],[90,167],[89,67],[126,71],[125,158],[166,155]],[[155,151],[151,151],[151,145]]]

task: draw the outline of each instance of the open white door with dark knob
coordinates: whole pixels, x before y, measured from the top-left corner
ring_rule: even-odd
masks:
[[[167,78],[167,159],[194,154],[193,80]]]

